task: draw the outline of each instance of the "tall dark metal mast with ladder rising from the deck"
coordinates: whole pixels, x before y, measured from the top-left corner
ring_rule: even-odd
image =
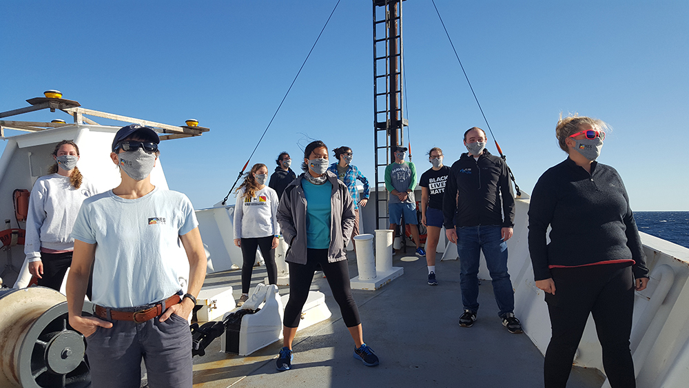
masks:
[[[376,229],[386,229],[385,167],[395,160],[409,123],[402,112],[402,0],[373,0],[373,125]]]

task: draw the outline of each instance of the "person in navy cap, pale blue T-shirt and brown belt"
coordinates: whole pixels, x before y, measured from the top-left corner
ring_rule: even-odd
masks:
[[[206,257],[187,196],[151,183],[159,141],[141,125],[117,132],[110,159],[122,181],[85,200],[72,229],[69,320],[86,337],[94,387],[139,388],[142,358],[150,388],[192,387],[187,317]],[[82,316],[92,265],[94,316]]]

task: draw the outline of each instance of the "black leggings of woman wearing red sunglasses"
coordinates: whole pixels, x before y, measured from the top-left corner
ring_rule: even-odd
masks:
[[[553,336],[546,350],[546,388],[564,388],[572,361],[593,314],[610,387],[636,387],[629,349],[634,276],[626,263],[551,269],[555,295],[546,293]]]

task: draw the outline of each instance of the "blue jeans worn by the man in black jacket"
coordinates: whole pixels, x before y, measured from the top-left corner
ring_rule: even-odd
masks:
[[[478,311],[478,267],[481,250],[493,279],[498,315],[514,312],[515,296],[507,273],[507,243],[500,225],[457,227],[457,254],[460,255],[460,289],[464,309]]]

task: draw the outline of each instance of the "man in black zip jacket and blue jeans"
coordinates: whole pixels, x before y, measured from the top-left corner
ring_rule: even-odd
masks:
[[[442,205],[447,238],[457,244],[460,255],[460,289],[464,305],[460,325],[471,327],[476,320],[477,275],[483,251],[493,279],[502,325],[511,333],[521,333],[522,325],[514,315],[514,290],[507,272],[506,241],[512,237],[515,217],[507,165],[486,150],[486,132],[479,127],[464,132],[464,145],[469,152],[453,163]]]

